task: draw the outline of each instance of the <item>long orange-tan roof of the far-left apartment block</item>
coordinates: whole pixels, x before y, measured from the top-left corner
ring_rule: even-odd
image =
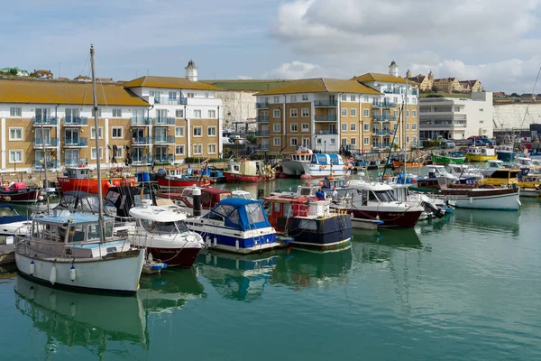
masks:
[[[149,106],[122,85],[98,84],[100,106]],[[0,103],[92,105],[92,85],[81,82],[0,79]]]

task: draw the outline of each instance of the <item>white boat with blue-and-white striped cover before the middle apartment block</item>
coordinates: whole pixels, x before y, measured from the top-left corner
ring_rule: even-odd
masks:
[[[343,177],[351,169],[341,155],[312,153],[310,150],[289,154],[289,159],[280,162],[280,165],[282,173],[303,179]],[[353,165],[350,166],[353,168]]]

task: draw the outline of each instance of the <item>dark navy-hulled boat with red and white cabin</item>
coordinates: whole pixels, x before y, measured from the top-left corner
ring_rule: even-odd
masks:
[[[330,206],[330,200],[280,195],[266,197],[263,203],[271,226],[293,238],[288,245],[318,249],[336,248],[351,240],[351,217]]]

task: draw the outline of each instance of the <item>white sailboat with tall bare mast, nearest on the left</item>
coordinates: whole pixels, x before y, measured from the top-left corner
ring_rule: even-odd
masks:
[[[94,47],[90,48],[94,120],[97,129]],[[98,148],[96,137],[96,149]],[[97,182],[101,182],[99,159]],[[104,216],[98,191],[98,214],[54,211],[32,219],[32,228],[16,236],[15,263],[23,277],[53,287],[84,291],[135,293],[139,289],[144,249],[113,235],[115,218]]]

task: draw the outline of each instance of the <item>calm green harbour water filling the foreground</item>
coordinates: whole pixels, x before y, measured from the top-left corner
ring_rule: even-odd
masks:
[[[341,252],[199,255],[193,270],[143,276],[136,297],[6,273],[2,359],[540,359],[541,202],[521,201],[354,231]]]

